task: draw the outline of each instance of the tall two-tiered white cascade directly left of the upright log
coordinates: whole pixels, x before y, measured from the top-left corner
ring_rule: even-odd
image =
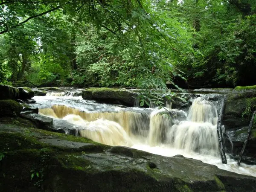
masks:
[[[216,107],[198,97],[194,100],[186,121],[173,125],[168,132],[168,143],[174,148],[196,151],[200,154],[218,154]]]

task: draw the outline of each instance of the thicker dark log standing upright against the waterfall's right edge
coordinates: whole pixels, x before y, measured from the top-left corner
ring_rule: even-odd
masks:
[[[219,141],[219,149],[220,149],[220,154],[221,154],[221,160],[222,160],[222,163],[224,163],[224,164],[227,164],[227,158],[226,158],[225,147],[224,147],[224,143],[223,143],[221,122],[223,119],[226,102],[227,102],[227,99],[224,98],[222,101],[222,107],[221,107],[220,114],[218,116],[218,122],[217,122],[217,134],[218,134],[218,141]]]

